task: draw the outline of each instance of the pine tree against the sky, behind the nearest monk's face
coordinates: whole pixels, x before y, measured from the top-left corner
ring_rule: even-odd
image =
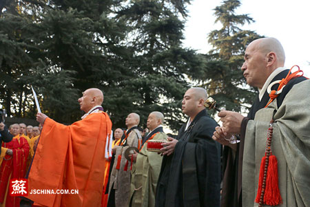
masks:
[[[214,9],[216,23],[220,22],[222,28],[209,33],[213,49],[205,55],[205,73],[194,77],[207,86],[218,106],[237,112],[247,110],[256,95],[256,90],[247,86],[240,68],[246,46],[261,37],[254,31],[239,28],[254,22],[248,14],[236,14],[240,5],[238,0],[226,0]]]

